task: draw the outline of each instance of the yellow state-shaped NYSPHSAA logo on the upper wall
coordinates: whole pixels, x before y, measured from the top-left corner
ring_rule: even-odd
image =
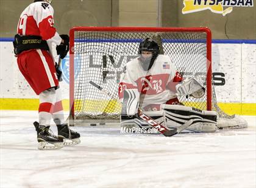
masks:
[[[233,7],[253,7],[254,0],[183,0],[183,14],[210,10],[223,16],[232,12]],[[227,7],[227,8],[224,8]]]

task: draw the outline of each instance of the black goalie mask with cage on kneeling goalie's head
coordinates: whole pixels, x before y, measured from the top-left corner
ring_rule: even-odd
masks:
[[[146,38],[140,42],[138,53],[140,54],[141,67],[147,71],[151,69],[159,54],[159,45],[154,40]]]

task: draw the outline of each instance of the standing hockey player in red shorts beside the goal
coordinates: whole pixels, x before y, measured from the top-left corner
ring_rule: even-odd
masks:
[[[35,0],[21,13],[17,35],[13,41],[20,72],[30,87],[39,95],[38,149],[60,149],[63,144],[80,143],[80,135],[65,124],[59,79],[52,55],[52,44],[57,45],[57,55],[65,58],[69,51],[69,36],[59,35],[54,27],[54,9],[50,0]],[[58,136],[51,133],[51,118],[57,125]]]

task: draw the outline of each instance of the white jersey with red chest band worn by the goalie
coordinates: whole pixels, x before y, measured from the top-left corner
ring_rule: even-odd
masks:
[[[126,64],[121,75],[118,94],[123,98],[123,90],[138,89],[143,97],[145,107],[151,104],[165,104],[169,99],[176,98],[175,86],[182,81],[182,76],[167,55],[158,55],[149,71],[143,70],[138,58]]]

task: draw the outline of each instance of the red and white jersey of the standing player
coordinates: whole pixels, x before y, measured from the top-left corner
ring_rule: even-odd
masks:
[[[34,2],[21,13],[17,33],[20,35],[41,36],[48,44],[49,42],[54,42],[59,45],[62,38],[60,38],[54,27],[53,15],[54,9],[48,2]]]

